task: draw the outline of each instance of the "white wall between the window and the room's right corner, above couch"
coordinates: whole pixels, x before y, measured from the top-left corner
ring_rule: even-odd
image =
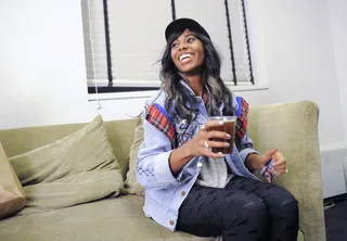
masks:
[[[261,33],[255,33],[252,39],[265,39],[265,54],[257,56],[257,61],[266,62],[270,89],[247,93],[246,97],[253,104],[313,100],[321,110],[321,145],[344,140],[325,0],[317,0],[314,4],[310,0],[304,0],[299,8],[297,2],[286,0],[249,2],[250,26],[255,23],[259,26],[257,29],[261,28]],[[249,30],[253,30],[252,27]]]

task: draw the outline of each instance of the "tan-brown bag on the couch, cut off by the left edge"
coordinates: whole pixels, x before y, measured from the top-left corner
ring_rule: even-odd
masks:
[[[25,205],[25,192],[0,143],[0,219]]]

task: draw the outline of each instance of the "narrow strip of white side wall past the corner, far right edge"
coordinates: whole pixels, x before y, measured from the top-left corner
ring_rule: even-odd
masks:
[[[345,140],[347,139],[347,1],[327,0],[332,39],[334,47],[335,67],[337,73],[339,97],[342,103],[343,123],[345,125]],[[322,153],[322,174],[324,195],[330,196],[347,192],[347,144],[340,149]],[[340,168],[345,165],[345,170]],[[345,183],[345,186],[339,185]]]

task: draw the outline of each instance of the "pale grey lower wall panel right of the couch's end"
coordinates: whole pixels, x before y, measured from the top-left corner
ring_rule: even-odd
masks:
[[[347,193],[346,163],[347,143],[339,142],[321,147],[321,169],[323,198],[333,198]]]

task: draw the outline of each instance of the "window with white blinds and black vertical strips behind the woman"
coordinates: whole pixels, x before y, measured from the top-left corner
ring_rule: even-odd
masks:
[[[165,27],[191,17],[209,33],[228,86],[254,85],[243,0],[81,0],[88,92],[155,90]]]

